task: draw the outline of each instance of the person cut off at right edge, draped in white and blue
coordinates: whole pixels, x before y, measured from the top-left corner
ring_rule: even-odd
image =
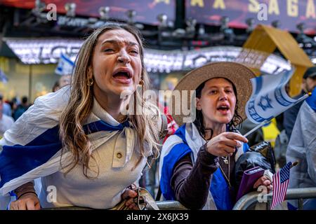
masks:
[[[298,161],[298,165],[290,170],[289,188],[316,188],[315,127],[316,88],[312,91],[312,95],[305,99],[298,112],[287,148],[287,162]],[[297,200],[290,203],[289,209],[297,209]],[[316,210],[316,199],[304,200],[303,209]]]

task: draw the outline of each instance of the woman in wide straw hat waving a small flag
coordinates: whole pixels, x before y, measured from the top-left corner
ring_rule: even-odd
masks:
[[[177,107],[183,109],[178,102],[185,101],[171,99],[171,114],[183,125],[162,148],[159,178],[166,200],[178,200],[189,209],[232,209],[237,190],[235,162],[249,148],[236,128],[245,118],[244,106],[254,77],[242,64],[216,62],[180,80],[174,91],[182,99],[187,97],[192,122],[183,124],[185,115],[176,113]],[[195,90],[195,102],[185,96],[190,91],[183,90]],[[270,189],[270,184],[263,176],[254,188],[264,185]]]

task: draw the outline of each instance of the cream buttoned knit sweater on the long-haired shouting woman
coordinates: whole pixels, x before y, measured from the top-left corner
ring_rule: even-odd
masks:
[[[98,118],[109,123],[110,125],[119,125],[109,113],[104,111],[96,99],[93,103],[93,111]],[[96,133],[102,135],[103,132]],[[94,137],[96,137],[96,134]],[[56,172],[50,176],[41,178],[42,188],[40,193],[41,207],[89,207],[93,209],[110,209],[121,200],[121,194],[131,183],[138,182],[141,172],[146,164],[146,159],[135,167],[140,158],[139,143],[137,138],[134,144],[131,159],[124,164],[126,149],[120,148],[121,144],[117,142],[119,133],[115,134],[105,144],[96,148],[92,155],[96,159],[99,168],[99,175],[96,179],[87,179],[83,174],[82,165],[77,165],[66,176],[65,171]],[[98,139],[98,137],[96,137]],[[116,146],[116,147],[115,147]],[[94,171],[96,162],[91,160],[90,165]],[[114,166],[114,163],[121,164],[121,167]],[[95,173],[88,172],[91,176]],[[53,188],[52,188],[53,186]],[[55,187],[55,202],[48,202],[47,196],[52,196]],[[48,191],[47,191],[48,190]]]

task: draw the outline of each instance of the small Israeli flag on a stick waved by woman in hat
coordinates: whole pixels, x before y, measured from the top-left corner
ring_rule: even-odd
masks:
[[[251,78],[252,94],[245,107],[246,116],[251,122],[258,124],[270,120],[298,102],[285,91],[285,85],[293,73],[294,69]]]

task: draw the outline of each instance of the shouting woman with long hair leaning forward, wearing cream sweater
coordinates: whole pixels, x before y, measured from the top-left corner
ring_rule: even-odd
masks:
[[[88,36],[71,85],[39,97],[0,141],[0,193],[16,195],[11,209],[110,209],[122,199],[136,209],[128,187],[159,155],[157,107],[137,90],[149,83],[143,57],[140,34],[128,25]],[[132,100],[145,113],[122,113],[133,111]]]

